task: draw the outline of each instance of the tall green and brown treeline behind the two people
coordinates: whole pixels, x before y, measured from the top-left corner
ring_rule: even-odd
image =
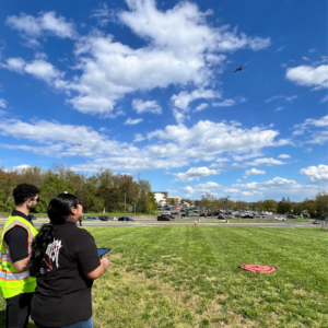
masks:
[[[149,213],[157,206],[151,184],[148,180],[126,174],[114,174],[110,169],[98,171],[94,175],[75,173],[62,164],[54,164],[51,169],[27,167],[21,171],[0,168],[0,211],[10,212],[14,208],[13,188],[19,184],[32,184],[40,189],[37,213],[47,212],[50,199],[63,191],[82,200],[84,212],[127,212]]]

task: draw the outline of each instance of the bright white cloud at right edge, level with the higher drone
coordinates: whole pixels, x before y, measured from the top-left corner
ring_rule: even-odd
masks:
[[[306,86],[315,86],[315,90],[328,87],[328,65],[317,68],[298,66],[286,70],[286,79]]]

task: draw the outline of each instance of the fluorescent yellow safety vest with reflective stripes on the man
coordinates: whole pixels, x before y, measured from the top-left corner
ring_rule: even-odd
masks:
[[[0,290],[4,298],[10,298],[21,293],[33,293],[36,286],[36,279],[30,277],[27,269],[17,271],[10,257],[10,249],[4,241],[4,234],[14,226],[22,226],[28,235],[28,255],[32,253],[32,242],[37,235],[36,229],[21,216],[9,216],[3,226],[0,251]]]

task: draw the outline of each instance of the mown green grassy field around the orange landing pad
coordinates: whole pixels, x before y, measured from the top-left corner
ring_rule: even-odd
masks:
[[[87,231],[113,249],[110,269],[93,286],[96,328],[328,327],[328,233],[319,227]],[[277,271],[251,273],[242,263]]]

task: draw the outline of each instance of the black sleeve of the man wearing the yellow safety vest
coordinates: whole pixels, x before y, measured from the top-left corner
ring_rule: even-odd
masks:
[[[28,235],[22,226],[14,226],[4,235],[4,241],[9,246],[10,256],[13,262],[28,257]]]

